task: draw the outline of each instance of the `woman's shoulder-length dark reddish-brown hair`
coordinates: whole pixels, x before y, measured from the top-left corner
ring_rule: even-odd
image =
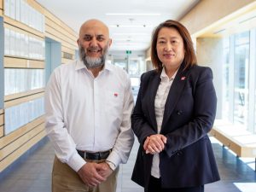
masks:
[[[197,61],[195,56],[195,50],[193,48],[193,42],[190,37],[189,31],[186,29],[185,26],[183,26],[181,23],[177,22],[176,20],[166,20],[165,22],[160,23],[160,25],[154,29],[154,32],[152,34],[151,61],[153,63],[153,66],[157,69],[157,71],[160,72],[162,70],[162,63],[157,56],[156,43],[157,43],[157,38],[160,32],[160,29],[163,27],[175,28],[183,38],[183,44],[184,44],[184,50],[185,50],[185,55],[183,59],[184,69],[196,65]]]

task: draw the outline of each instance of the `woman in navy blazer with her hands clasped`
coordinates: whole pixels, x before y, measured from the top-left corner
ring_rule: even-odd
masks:
[[[143,73],[132,129],[140,148],[132,180],[147,192],[202,192],[219,180],[207,133],[217,98],[212,70],[196,64],[188,30],[175,20],[156,27],[153,71]]]

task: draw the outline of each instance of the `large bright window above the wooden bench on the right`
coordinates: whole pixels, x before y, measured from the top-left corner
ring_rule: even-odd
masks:
[[[256,133],[256,29],[223,39],[222,119]],[[250,90],[250,92],[249,92]],[[253,92],[252,92],[253,91]]]

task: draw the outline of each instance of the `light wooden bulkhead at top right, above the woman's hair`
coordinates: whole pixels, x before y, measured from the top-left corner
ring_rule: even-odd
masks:
[[[213,26],[219,25],[219,23],[230,20],[230,16],[240,15],[241,10],[255,9],[255,6],[255,0],[204,0],[197,3],[179,21],[196,38],[203,34],[209,27],[212,28]]]

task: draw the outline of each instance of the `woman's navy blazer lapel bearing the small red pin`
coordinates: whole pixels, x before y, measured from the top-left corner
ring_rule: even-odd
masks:
[[[166,99],[165,112],[161,128],[163,128],[166,125],[170,115],[172,114],[173,109],[176,106],[178,99],[180,98],[180,95],[183,91],[183,87],[187,79],[189,78],[189,73],[187,72],[188,70],[183,71],[183,66],[181,66],[177,71],[176,77],[172,82],[171,89]]]

